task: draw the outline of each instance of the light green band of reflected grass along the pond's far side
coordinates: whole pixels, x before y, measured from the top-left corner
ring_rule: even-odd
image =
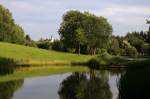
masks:
[[[27,77],[46,76],[52,74],[61,74],[67,72],[83,72],[87,71],[87,67],[79,66],[39,66],[39,67],[28,67],[20,68],[15,70],[13,74],[0,76],[0,82],[6,82],[11,80],[24,79]]]

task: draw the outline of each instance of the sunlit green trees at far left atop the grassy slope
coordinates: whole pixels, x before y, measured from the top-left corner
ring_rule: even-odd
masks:
[[[24,44],[24,31],[15,24],[8,9],[0,5],[0,41]]]

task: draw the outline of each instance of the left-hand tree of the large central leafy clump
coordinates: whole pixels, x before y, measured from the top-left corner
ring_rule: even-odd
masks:
[[[59,34],[67,48],[76,48],[78,46],[77,39],[79,33],[77,30],[82,28],[84,15],[79,11],[69,11],[63,16]],[[80,35],[81,32],[80,32]]]

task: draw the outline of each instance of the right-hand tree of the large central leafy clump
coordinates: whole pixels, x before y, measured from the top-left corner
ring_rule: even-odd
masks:
[[[85,33],[87,37],[90,53],[95,55],[97,48],[103,48],[109,43],[109,38],[112,34],[112,26],[107,19],[100,16],[95,16],[85,12]]]

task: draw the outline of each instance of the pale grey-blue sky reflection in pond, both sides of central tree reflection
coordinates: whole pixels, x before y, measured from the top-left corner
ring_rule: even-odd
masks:
[[[109,74],[109,85],[113,93],[113,99],[117,98],[116,75]],[[23,86],[15,92],[13,99],[59,99],[58,89],[60,83],[71,73],[36,77],[24,80]]]

